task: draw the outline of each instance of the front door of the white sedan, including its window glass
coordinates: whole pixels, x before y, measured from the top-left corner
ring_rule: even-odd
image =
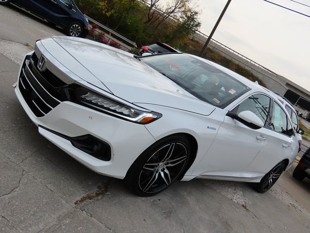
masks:
[[[271,99],[264,94],[253,94],[231,110],[235,114],[251,111],[263,123],[269,117]],[[248,165],[262,149],[265,130],[249,126],[225,116],[210,149],[197,166],[194,173],[205,178],[241,178]],[[245,177],[254,179],[255,177]]]

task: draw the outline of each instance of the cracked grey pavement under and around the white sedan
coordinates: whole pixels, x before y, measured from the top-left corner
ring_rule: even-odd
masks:
[[[0,21],[1,233],[310,232],[310,180],[294,167],[265,194],[196,179],[140,198],[80,165],[38,133],[12,87],[35,40],[62,32],[14,7],[0,6]]]

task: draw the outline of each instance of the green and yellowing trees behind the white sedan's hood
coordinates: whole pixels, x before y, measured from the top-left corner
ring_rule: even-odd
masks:
[[[146,2],[155,4],[150,6]],[[156,41],[178,46],[200,28],[199,12],[189,6],[192,0],[171,0],[164,9],[157,5],[158,2],[159,0],[76,0],[84,14],[136,41],[138,46]]]

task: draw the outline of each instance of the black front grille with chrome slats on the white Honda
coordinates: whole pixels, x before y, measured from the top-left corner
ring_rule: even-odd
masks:
[[[36,66],[37,62],[35,53],[25,59],[18,86],[34,115],[42,117],[64,100],[61,90],[66,84],[49,70],[40,72]]]

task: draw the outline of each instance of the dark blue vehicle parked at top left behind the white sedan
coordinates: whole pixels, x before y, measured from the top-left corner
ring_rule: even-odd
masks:
[[[86,37],[88,34],[88,20],[73,0],[0,0],[0,4],[9,3],[60,26],[69,36]]]

